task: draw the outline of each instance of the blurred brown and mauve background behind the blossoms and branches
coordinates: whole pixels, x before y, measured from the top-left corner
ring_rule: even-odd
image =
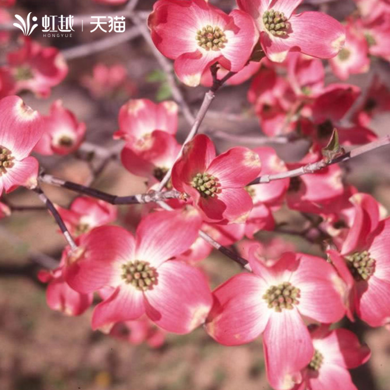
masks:
[[[137,10],[151,10],[153,0],[141,0]],[[229,11],[231,0],[213,3]],[[33,12],[40,18],[47,15],[121,15],[122,6],[100,5],[93,0],[18,0],[15,13],[26,16]],[[304,2],[301,9],[322,9],[342,20],[353,10],[350,0]],[[127,29],[131,22],[127,22]],[[65,54],[78,45],[106,38],[102,32],[83,32],[75,28],[72,38],[43,38],[35,34],[42,45],[56,46]],[[114,33],[111,33],[114,34]],[[2,47],[0,61],[16,45],[18,32],[8,47]],[[81,78],[92,74],[97,63],[123,64],[134,90],[126,96],[93,97],[82,85]],[[68,60],[69,74],[47,99],[31,93],[22,94],[25,102],[43,114],[58,98],[87,125],[86,140],[105,148],[116,148],[112,139],[117,130],[117,113],[128,98],[169,98],[169,87],[163,73],[142,37],[114,45],[111,48]],[[375,63],[382,79],[390,84],[389,64]],[[327,82],[335,82],[331,74]],[[366,86],[367,75],[351,77],[348,82]],[[201,131],[213,137],[218,130],[234,135],[260,135],[257,118],[246,100],[249,83],[222,88]],[[389,85],[390,86],[390,85]],[[181,87],[190,107],[199,107],[203,87]],[[371,128],[379,135],[389,133],[390,114],[374,118]],[[180,116],[178,139],[183,140],[188,124]],[[219,152],[232,142],[214,138]],[[254,147],[251,143],[244,146]],[[274,146],[274,145],[273,145]],[[286,161],[303,156],[305,142],[275,145]],[[85,156],[39,157],[50,173],[79,183],[93,180]],[[360,191],[369,192],[390,210],[390,153],[382,148],[343,165],[346,180]],[[93,186],[117,195],[131,195],[145,189],[143,179],[129,174],[113,158]],[[74,198],[66,190],[45,187],[47,195],[66,206]],[[20,189],[8,196],[14,204],[39,205],[37,196]],[[119,208],[118,223],[134,229],[139,206]],[[304,223],[298,213],[276,213],[277,221],[287,221],[292,227]],[[259,234],[269,238],[273,234]],[[280,234],[279,234],[280,235]],[[299,250],[318,254],[318,246],[309,245],[296,236],[283,235]],[[189,335],[167,335],[165,344],[157,349],[147,345],[131,345],[90,329],[92,309],[80,317],[67,317],[51,311],[45,301],[45,285],[36,274],[45,261],[45,254],[59,259],[64,247],[63,237],[53,219],[46,212],[15,212],[0,221],[0,389],[1,390],[260,390],[269,389],[265,377],[261,340],[240,347],[223,347],[215,343],[202,329]],[[239,267],[213,253],[202,265],[210,275],[213,287],[240,271]],[[390,389],[390,334],[385,329],[370,330],[362,324],[345,324],[363,337],[373,351],[370,361],[352,376],[359,390]],[[336,390],[336,389],[329,389]]]

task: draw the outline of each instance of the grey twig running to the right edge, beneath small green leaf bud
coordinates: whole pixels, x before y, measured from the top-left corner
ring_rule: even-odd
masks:
[[[389,144],[390,144],[390,135],[387,135],[385,137],[377,139],[376,141],[373,141],[373,142],[370,142],[366,145],[359,146],[355,149],[352,149],[350,152],[343,153],[341,156],[337,156],[335,158],[332,158],[331,160],[323,158],[317,162],[312,162],[312,163],[306,164],[300,168],[292,169],[291,171],[256,177],[248,185],[269,183],[270,181],[284,179],[287,177],[295,177],[295,176],[302,176],[305,174],[312,174],[316,171],[319,171],[319,170],[327,167],[328,165],[337,164],[339,162],[347,161],[353,157],[360,156],[364,153],[370,152],[372,150],[378,149],[382,146],[386,146]]]

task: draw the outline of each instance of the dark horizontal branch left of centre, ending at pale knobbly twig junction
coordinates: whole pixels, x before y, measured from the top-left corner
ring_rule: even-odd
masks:
[[[46,184],[51,184],[57,187],[66,188],[71,191],[78,192],[80,194],[88,195],[100,200],[104,200],[110,204],[144,204],[151,202],[158,202],[159,200],[166,199],[181,199],[187,200],[187,195],[183,194],[179,191],[165,191],[165,192],[149,192],[146,194],[137,194],[137,195],[129,195],[129,196],[117,196],[108,194],[95,188],[83,186],[78,183],[74,183],[72,181],[67,181],[60,179],[59,177],[51,176],[51,175],[40,175],[39,181]]]

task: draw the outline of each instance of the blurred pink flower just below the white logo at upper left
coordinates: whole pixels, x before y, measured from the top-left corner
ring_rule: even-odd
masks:
[[[30,90],[47,98],[50,89],[58,85],[68,73],[65,59],[55,47],[42,47],[27,37],[23,37],[22,43],[20,49],[7,56],[17,90]]]

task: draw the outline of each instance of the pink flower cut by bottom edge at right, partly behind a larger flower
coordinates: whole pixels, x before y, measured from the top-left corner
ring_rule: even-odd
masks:
[[[348,369],[354,369],[370,359],[371,351],[346,329],[331,331],[329,326],[313,326],[314,355],[302,371],[303,381],[293,390],[357,390]]]

